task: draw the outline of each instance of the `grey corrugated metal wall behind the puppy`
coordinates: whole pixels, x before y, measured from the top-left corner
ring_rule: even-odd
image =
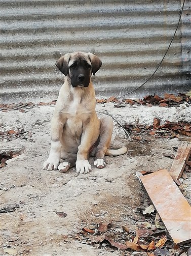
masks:
[[[1,102],[57,98],[63,75],[55,61],[76,50],[103,62],[94,84],[100,98],[140,86],[161,61],[176,29],[180,0],[1,0]],[[157,74],[128,97],[190,87],[190,2]]]

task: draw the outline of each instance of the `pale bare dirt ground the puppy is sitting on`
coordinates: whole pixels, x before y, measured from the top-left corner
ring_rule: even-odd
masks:
[[[152,124],[154,117],[162,122],[191,122],[191,106],[162,108],[159,106],[131,106],[114,108],[113,103],[97,105],[99,115],[108,111],[122,124]],[[127,138],[123,129],[114,122],[113,145],[128,148],[125,155],[106,157],[104,169],[93,167],[89,174],[77,175],[75,169],[67,173],[42,169],[50,150],[50,120],[54,106],[35,106],[24,111],[1,111],[1,131],[22,130],[20,136],[11,135],[1,141],[2,152],[19,152],[7,161],[1,172],[0,208],[13,208],[1,213],[0,255],[147,255],[131,250],[120,251],[102,244],[89,245],[78,239],[82,227],[110,222],[116,232],[122,226],[135,229],[141,220],[138,208],[151,204],[136,172],[141,170],[169,170],[175,154],[177,138],[164,139],[145,135],[142,140]],[[90,159],[93,165],[93,159]],[[183,179],[182,179],[183,181]],[[190,187],[186,179],[185,196],[190,202]],[[172,198],[173,200],[173,198]],[[59,217],[56,212],[64,212]],[[134,254],[133,254],[134,253]]]

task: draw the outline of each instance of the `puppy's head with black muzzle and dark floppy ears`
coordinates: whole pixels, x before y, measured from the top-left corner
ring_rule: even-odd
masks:
[[[100,69],[102,62],[93,53],[73,52],[62,56],[57,68],[71,80],[72,87],[88,87],[90,77]]]

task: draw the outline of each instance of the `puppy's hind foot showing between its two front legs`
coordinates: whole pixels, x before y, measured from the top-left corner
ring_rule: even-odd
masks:
[[[67,170],[70,167],[75,166],[76,160],[77,160],[77,154],[62,152],[61,161],[60,161],[60,164],[58,166],[59,171],[61,173],[67,172]]]

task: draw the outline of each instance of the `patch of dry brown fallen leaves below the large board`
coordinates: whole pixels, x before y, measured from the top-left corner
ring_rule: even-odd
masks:
[[[96,247],[101,246],[102,243],[106,243],[107,246],[118,248],[120,250],[130,249],[133,251],[144,251],[147,252],[148,255],[155,255],[152,253],[155,252],[156,249],[161,249],[164,247],[165,243],[167,242],[167,238],[163,235],[163,233],[159,233],[157,230],[156,239],[154,236],[152,236],[154,231],[151,230],[151,224],[149,222],[145,223],[148,223],[149,225],[144,225],[143,222],[141,226],[148,226],[148,228],[141,227],[135,232],[130,231],[128,226],[122,226],[122,233],[118,233],[118,229],[114,229],[112,223],[100,222],[95,224],[95,227],[92,225],[91,228],[83,227],[81,232],[75,238],[80,239],[80,241],[85,239],[86,243],[89,241],[91,245],[96,244]]]

